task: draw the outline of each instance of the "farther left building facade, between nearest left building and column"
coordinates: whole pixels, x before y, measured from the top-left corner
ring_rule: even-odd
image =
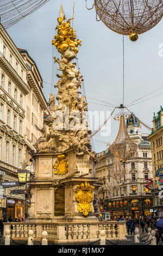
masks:
[[[42,93],[42,77],[35,61],[29,56],[27,50],[20,48],[18,48],[18,50],[22,54],[28,68],[26,76],[30,92],[25,97],[26,126],[24,126],[24,152],[26,162],[31,165],[32,163],[29,161],[30,151],[36,151],[34,144],[41,136],[41,132],[36,129],[36,126],[39,127],[39,129],[42,129],[43,127],[43,111],[47,109],[47,102]]]

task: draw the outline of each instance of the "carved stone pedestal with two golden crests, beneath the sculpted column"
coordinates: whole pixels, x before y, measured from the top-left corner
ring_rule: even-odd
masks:
[[[97,222],[92,199],[99,184],[89,154],[35,153],[33,160],[27,222]]]

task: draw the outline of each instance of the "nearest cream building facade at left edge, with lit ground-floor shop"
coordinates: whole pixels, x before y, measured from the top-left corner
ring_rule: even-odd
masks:
[[[17,168],[24,156],[25,98],[28,70],[21,53],[8,33],[0,25],[0,175],[2,181],[18,181]],[[24,194],[14,195],[13,189],[1,188],[0,218],[24,214]],[[3,206],[3,207],[2,207]]]

